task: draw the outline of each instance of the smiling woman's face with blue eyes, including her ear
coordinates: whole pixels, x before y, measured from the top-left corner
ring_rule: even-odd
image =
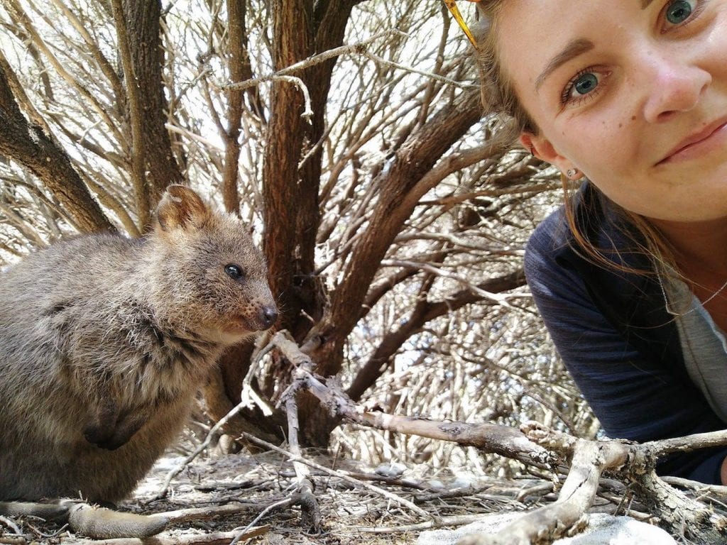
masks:
[[[727,0],[507,0],[523,143],[646,217],[727,217]]]

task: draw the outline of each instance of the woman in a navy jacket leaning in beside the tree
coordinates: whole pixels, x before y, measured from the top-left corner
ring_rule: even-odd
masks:
[[[611,437],[727,427],[727,0],[483,0],[485,102],[582,181],[526,251]],[[727,448],[658,471],[727,483]]]

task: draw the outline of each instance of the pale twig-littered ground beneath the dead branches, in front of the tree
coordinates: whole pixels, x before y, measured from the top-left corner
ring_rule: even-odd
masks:
[[[423,464],[371,468],[335,460],[325,453],[307,452],[305,458],[326,468],[310,469],[321,533],[310,533],[303,522],[308,511],[300,504],[290,504],[297,497],[292,495],[299,481],[292,464],[281,454],[233,454],[193,461],[159,499],[166,475],[183,461],[168,456],[157,462],[134,497],[116,510],[138,514],[179,514],[182,510],[185,517],[166,528],[157,541],[106,543],[230,543],[252,525],[260,535],[242,538],[239,543],[414,544],[427,528],[454,527],[471,522],[477,514],[528,509],[549,492],[547,482],[532,479],[497,480],[449,469],[437,471]],[[284,504],[278,505],[280,502]],[[235,512],[225,514],[225,509]],[[13,536],[17,543],[92,543],[52,522],[29,518],[14,522],[20,532]],[[3,525],[0,529],[5,530],[0,544],[11,542],[7,539],[15,532]]]

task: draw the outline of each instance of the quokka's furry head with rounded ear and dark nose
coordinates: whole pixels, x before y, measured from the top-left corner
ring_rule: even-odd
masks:
[[[168,319],[225,342],[278,319],[265,259],[238,217],[213,211],[189,187],[170,185],[152,238],[157,304]]]

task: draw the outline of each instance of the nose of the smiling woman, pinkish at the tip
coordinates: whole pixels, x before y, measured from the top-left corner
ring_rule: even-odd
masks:
[[[712,81],[711,74],[690,62],[686,55],[669,53],[651,52],[638,68],[643,72],[642,84],[648,89],[644,116],[651,123],[666,121],[675,113],[694,108]]]

